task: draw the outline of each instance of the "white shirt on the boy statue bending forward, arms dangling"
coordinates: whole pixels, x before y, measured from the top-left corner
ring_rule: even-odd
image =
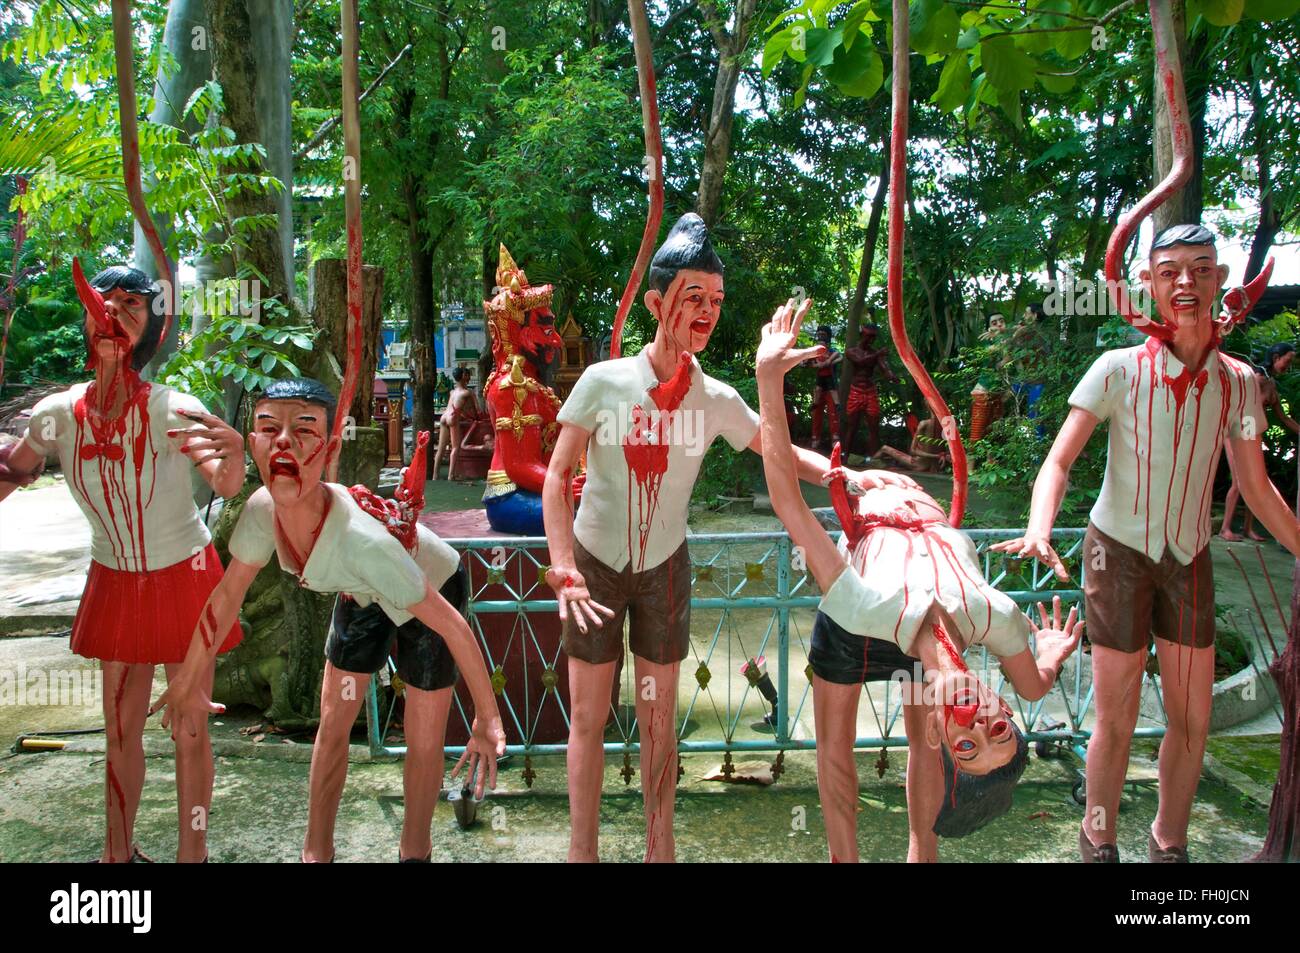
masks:
[[[425,527],[417,528],[419,546],[412,556],[356,504],[347,488],[324,486],[333,499],[298,575],[299,584],[313,593],[347,593],[361,606],[378,602],[395,624],[408,621],[413,616],[407,607],[424,601],[426,584],[437,592],[456,571],[460,556]],[[282,568],[292,564],[276,536],[276,503],[265,486],[244,503],[230,536],[230,555],[248,566],[265,566],[272,555],[278,555]]]

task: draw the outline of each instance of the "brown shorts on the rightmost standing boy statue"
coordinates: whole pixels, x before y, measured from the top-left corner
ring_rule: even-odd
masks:
[[[1158,563],[1102,533],[1092,523],[1083,537],[1088,567],[1083,584],[1088,641],[1134,653],[1150,637],[1204,649],[1214,645],[1214,562],[1206,546],[1190,566],[1170,549]],[[1104,568],[1093,568],[1093,566]]]

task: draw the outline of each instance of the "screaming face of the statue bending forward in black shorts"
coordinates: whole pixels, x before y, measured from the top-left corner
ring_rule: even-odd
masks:
[[[325,408],[306,400],[259,400],[248,452],[277,506],[294,506],[321,481],[332,447]]]

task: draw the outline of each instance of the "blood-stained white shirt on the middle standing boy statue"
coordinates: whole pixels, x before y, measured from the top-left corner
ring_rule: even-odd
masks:
[[[556,419],[592,437],[586,447],[586,484],[573,521],[582,547],[611,569],[632,563],[645,572],[663,563],[686,538],[690,493],[705,451],[722,436],[744,450],[758,433],[758,415],[736,389],[706,374],[692,361],[690,389],[671,415],[659,415],[650,389],[659,384],[650,358],[619,358],[593,364],[564,400]],[[633,423],[651,415],[668,446],[662,473],[638,468],[634,442],[644,429]],[[655,439],[659,439],[656,436]],[[629,455],[630,451],[630,455]]]

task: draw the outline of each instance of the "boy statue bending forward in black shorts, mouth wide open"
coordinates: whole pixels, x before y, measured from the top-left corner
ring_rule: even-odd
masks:
[[[468,763],[471,775],[477,772],[476,793],[481,797],[485,787],[495,785],[497,758],[506,750],[506,735],[469,624],[438,592],[455,579],[454,554],[443,551],[429,533],[413,541],[412,549],[422,549],[426,556],[421,563],[347,488],[322,480],[341,442],[330,437],[334,404],[334,395],[322,384],[304,378],[277,381],[257,398],[248,450],[263,486],[239,515],[230,537],[225,579],[203,610],[181,672],[153,710],[166,706],[164,724],[177,735],[199,731],[209,714],[221,711],[209,699],[199,675],[213,657],[213,633],[238,618],[248,586],[273,555],[304,588],[350,595],[356,607],[344,602],[337,608],[326,644],[329,660],[321,689],[324,737],[312,757],[312,811],[303,849],[304,861],[332,861],[334,813],[346,776],[346,732],[351,725],[347,715],[351,711],[355,718],[364,688],[361,677],[384,663],[394,634],[384,624],[376,629],[376,620],[367,611],[372,603],[377,605],[395,627],[419,620],[425,628],[396,633],[399,673],[404,671],[412,679],[413,692],[420,693],[412,696],[416,707],[412,725],[419,741],[415,757],[407,761],[412,816],[403,831],[400,852],[404,859],[425,859],[432,805],[438,796],[436,783],[441,785],[441,766],[432,762],[441,762],[456,667],[465,676],[476,718],[465,754],[452,776]]]

